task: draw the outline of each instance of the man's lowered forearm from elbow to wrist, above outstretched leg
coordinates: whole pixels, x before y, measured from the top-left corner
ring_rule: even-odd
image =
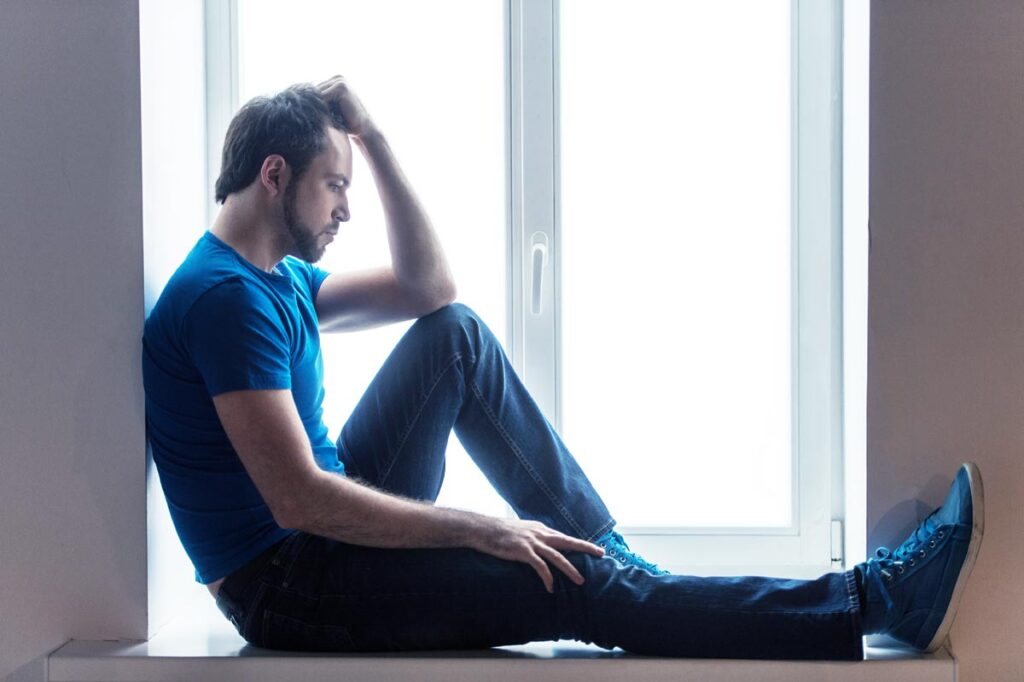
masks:
[[[352,545],[384,548],[477,547],[495,519],[380,493],[321,473],[293,527]]]

